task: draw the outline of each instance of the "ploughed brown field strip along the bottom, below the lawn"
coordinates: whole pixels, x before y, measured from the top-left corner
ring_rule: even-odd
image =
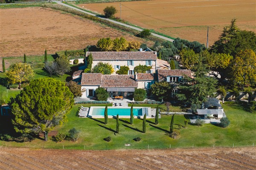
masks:
[[[50,150],[0,147],[1,170],[256,170],[256,147]]]

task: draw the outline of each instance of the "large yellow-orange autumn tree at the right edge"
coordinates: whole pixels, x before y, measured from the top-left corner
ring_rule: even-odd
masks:
[[[230,81],[234,87],[256,86],[256,55],[253,50],[240,51],[231,65]]]

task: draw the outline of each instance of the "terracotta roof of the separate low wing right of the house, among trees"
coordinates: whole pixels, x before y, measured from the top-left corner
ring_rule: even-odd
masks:
[[[190,78],[191,76],[191,70],[163,70],[163,69],[158,69],[158,80],[162,81],[165,80],[165,77],[167,76],[183,76],[186,75]]]

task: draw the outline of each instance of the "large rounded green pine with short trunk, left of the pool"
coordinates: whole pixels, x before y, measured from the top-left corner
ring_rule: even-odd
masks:
[[[61,125],[74,105],[73,94],[64,82],[52,78],[32,80],[11,99],[12,124],[16,132],[44,133]]]

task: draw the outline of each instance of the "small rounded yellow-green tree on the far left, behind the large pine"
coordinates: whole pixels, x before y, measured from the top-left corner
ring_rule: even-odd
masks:
[[[29,64],[17,62],[10,65],[9,71],[6,73],[9,83],[15,84],[28,82],[34,77],[34,71]]]

